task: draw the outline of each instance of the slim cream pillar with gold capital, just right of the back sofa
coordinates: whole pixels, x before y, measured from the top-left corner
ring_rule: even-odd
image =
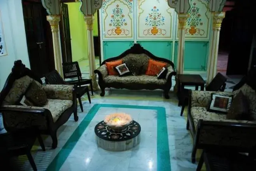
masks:
[[[184,63],[184,44],[185,44],[185,27],[186,27],[186,19],[188,14],[178,14],[179,20],[179,43],[178,43],[178,59],[176,72],[177,76],[175,77],[176,83],[178,81],[178,74],[183,74],[183,63]],[[178,84],[174,86],[174,92],[177,92]]]

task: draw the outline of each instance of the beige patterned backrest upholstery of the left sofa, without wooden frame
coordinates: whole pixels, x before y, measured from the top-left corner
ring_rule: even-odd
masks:
[[[3,105],[14,105],[17,103],[32,81],[33,79],[29,76],[24,76],[15,80],[12,88],[3,101]]]

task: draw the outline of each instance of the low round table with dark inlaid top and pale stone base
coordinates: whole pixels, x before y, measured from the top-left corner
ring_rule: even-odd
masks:
[[[140,143],[140,124],[136,121],[132,121],[122,132],[116,132],[100,121],[94,132],[98,147],[109,151],[125,151]]]

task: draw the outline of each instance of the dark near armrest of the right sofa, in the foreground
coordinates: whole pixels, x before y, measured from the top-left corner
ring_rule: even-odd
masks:
[[[220,146],[240,149],[241,152],[256,144],[256,122],[238,123],[222,121],[198,121],[196,143],[199,148]]]

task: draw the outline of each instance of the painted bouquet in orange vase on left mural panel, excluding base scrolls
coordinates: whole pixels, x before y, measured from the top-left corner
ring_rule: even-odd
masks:
[[[110,24],[109,26],[114,26],[116,27],[115,29],[115,33],[117,35],[121,34],[122,30],[120,29],[120,27],[127,26],[127,22],[124,18],[124,14],[123,14],[123,9],[119,7],[119,5],[116,5],[116,8],[114,8],[112,10],[112,15],[110,16]]]

